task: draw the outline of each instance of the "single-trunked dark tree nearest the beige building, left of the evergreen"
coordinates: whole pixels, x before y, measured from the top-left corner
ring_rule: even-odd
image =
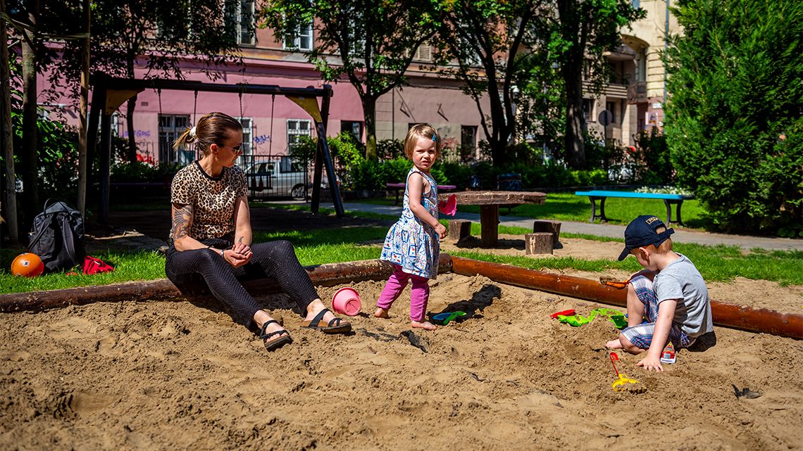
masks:
[[[560,74],[565,86],[564,144],[569,165],[585,169],[585,116],[583,73],[592,85],[607,78],[605,51],[621,42],[620,32],[630,22],[645,16],[630,0],[556,0],[555,34],[550,45],[558,49]]]

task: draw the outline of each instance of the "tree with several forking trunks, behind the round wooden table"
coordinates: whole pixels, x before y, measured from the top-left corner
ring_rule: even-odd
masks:
[[[463,92],[479,108],[480,124],[495,165],[507,161],[507,144],[516,136],[516,110],[527,102],[516,83],[528,86],[530,80],[525,74],[530,74],[536,63],[536,54],[520,49],[537,47],[542,37],[533,24],[537,6],[533,0],[442,2],[447,26],[438,35],[442,44],[439,62],[452,60],[454,65],[446,65],[440,72],[465,83]],[[480,102],[486,94],[490,104],[487,114]]]

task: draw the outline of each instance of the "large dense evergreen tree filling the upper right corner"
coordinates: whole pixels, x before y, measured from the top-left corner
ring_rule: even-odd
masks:
[[[803,3],[681,0],[665,132],[679,183],[725,230],[803,236]]]

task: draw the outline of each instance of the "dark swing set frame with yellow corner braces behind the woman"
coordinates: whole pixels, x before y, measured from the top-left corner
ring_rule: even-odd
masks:
[[[124,102],[145,89],[198,91],[203,92],[230,92],[241,96],[243,94],[270,94],[284,95],[287,99],[298,104],[315,121],[318,136],[318,148],[315,154],[314,170],[312,175],[312,213],[318,213],[320,205],[320,181],[323,177],[323,165],[326,165],[326,174],[329,189],[332,192],[332,203],[335,206],[337,217],[344,216],[343,201],[340,199],[340,187],[337,185],[332,154],[326,141],[326,127],[329,118],[329,104],[332,99],[332,86],[324,87],[281,87],[275,84],[218,84],[203,83],[193,80],[175,79],[122,79],[107,76],[98,76],[91,79],[92,108],[89,112],[89,128],[87,151],[94,152],[97,140],[98,124],[100,124],[100,214],[101,223],[108,222],[109,177],[112,165],[112,114]],[[320,108],[318,97],[321,98]],[[272,114],[272,111],[271,111]],[[271,116],[271,122],[273,118]]]

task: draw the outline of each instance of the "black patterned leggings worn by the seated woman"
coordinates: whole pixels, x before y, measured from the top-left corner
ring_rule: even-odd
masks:
[[[201,242],[217,249],[231,246],[231,242],[217,238]],[[234,319],[246,327],[251,324],[261,307],[243,288],[241,282],[245,280],[265,277],[275,279],[282,291],[302,311],[306,311],[307,306],[319,298],[309,274],[301,266],[290,242],[281,240],[256,243],[251,245],[251,252],[251,261],[235,268],[214,250],[179,251],[175,246],[170,246],[167,250],[165,273],[170,282],[185,294],[203,291],[203,284],[206,282],[212,295],[226,303],[231,308]]]

